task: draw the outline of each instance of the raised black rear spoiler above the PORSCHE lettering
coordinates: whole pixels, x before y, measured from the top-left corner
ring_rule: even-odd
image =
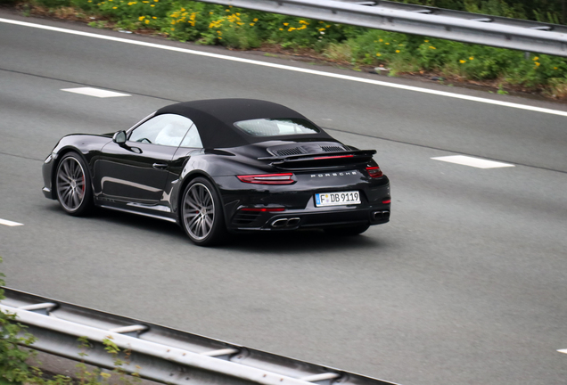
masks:
[[[277,168],[325,168],[367,163],[376,150],[354,150],[342,152],[317,152],[310,154],[265,157],[258,160],[271,161]]]

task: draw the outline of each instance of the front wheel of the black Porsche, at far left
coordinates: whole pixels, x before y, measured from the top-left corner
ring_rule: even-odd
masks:
[[[77,152],[62,157],[55,174],[57,201],[69,215],[80,217],[93,208],[93,188],[86,163]]]

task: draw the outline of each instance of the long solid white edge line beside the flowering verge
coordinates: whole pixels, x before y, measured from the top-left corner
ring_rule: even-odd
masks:
[[[104,35],[97,35],[97,34],[94,34],[94,33],[91,33],[91,32],[81,32],[81,31],[72,30],[72,29],[62,29],[62,28],[57,28],[57,27],[44,26],[44,25],[34,24],[34,23],[26,22],[26,21],[9,20],[9,19],[0,18],[0,22],[20,25],[20,26],[24,26],[24,27],[37,28],[37,29],[47,29],[47,30],[51,30],[51,31],[55,31],[55,32],[62,32],[62,33],[67,33],[67,34],[71,34],[71,35],[78,35],[78,36],[82,36],[82,37],[94,37],[94,38],[99,38],[99,39],[103,39],[103,40],[110,40],[110,41],[114,41],[114,42],[126,43],[126,44],[131,44],[131,45],[143,45],[143,46],[146,46],[146,47],[159,48],[159,49],[162,49],[162,50],[175,51],[175,52],[179,52],[179,53],[191,53],[191,54],[194,54],[194,55],[207,56],[207,57],[212,57],[212,58],[216,58],[216,59],[223,59],[223,60],[227,60],[227,61],[239,61],[239,62],[248,63],[248,64],[255,64],[255,65],[260,65],[260,66],[264,66],[264,67],[276,68],[276,69],[280,69],[280,70],[292,70],[292,71],[295,71],[295,72],[303,72],[303,73],[308,73],[308,74],[312,74],[312,75],[324,76],[324,77],[327,77],[327,78],[340,78],[340,79],[343,79],[343,80],[356,81],[356,82],[359,82],[359,83],[372,84],[372,85],[375,85],[375,86],[387,86],[387,87],[391,87],[391,88],[398,88],[398,89],[403,89],[403,90],[407,90],[407,91],[419,92],[419,93],[423,93],[423,94],[435,94],[435,95],[447,96],[447,97],[451,97],[451,98],[455,98],[455,99],[463,99],[463,100],[467,100],[467,101],[471,101],[471,102],[483,102],[483,103],[494,104],[494,105],[499,105],[499,106],[503,106],[503,107],[510,107],[510,108],[526,110],[526,111],[543,112],[543,113],[547,113],[547,114],[567,117],[567,111],[557,111],[557,110],[551,110],[551,109],[546,109],[546,108],[541,108],[541,107],[534,107],[534,106],[529,106],[529,105],[525,105],[525,104],[518,104],[518,103],[513,103],[513,102],[501,102],[501,101],[496,101],[496,100],[492,100],[492,99],[486,99],[486,98],[481,98],[481,97],[476,97],[476,96],[469,96],[469,95],[464,95],[464,94],[452,94],[452,93],[449,93],[449,92],[446,92],[446,91],[436,91],[436,90],[431,90],[431,89],[427,89],[427,88],[420,88],[420,87],[417,87],[417,86],[404,86],[404,85],[388,83],[388,82],[384,82],[384,81],[380,81],[380,80],[357,78],[357,77],[353,77],[353,76],[349,76],[349,75],[334,74],[334,73],[324,72],[324,71],[320,71],[320,70],[308,70],[308,69],[302,69],[302,68],[287,66],[287,65],[283,65],[283,64],[270,63],[270,62],[266,62],[266,61],[254,61],[254,60],[242,59],[242,58],[238,58],[238,57],[234,57],[234,56],[226,56],[226,55],[222,55],[222,54],[218,54],[218,53],[206,53],[206,52],[201,52],[201,51],[193,51],[193,50],[186,49],[186,48],[179,48],[179,47],[173,47],[173,46],[168,46],[168,45],[159,45],[159,44],[155,44],[155,43],[147,43],[147,42],[142,42],[142,41],[129,40],[129,39],[126,39],[126,38],[123,38],[123,37],[109,37],[109,36],[104,36]]]

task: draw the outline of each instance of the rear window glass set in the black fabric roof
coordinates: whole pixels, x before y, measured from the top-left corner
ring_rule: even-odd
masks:
[[[305,119],[251,119],[234,126],[252,136],[283,136],[317,134],[320,129]]]

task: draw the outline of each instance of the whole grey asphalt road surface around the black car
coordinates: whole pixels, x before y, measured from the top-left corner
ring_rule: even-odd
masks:
[[[19,18],[233,58],[557,111],[564,105]],[[1,21],[1,20],[0,20]],[[403,385],[567,381],[567,117],[0,22],[1,266],[7,285]],[[93,86],[130,94],[61,91]],[[176,225],[63,214],[41,165],[73,132],[171,102],[281,102],[360,148],[392,184],[390,224],[193,246]],[[473,168],[433,157],[514,164]]]

